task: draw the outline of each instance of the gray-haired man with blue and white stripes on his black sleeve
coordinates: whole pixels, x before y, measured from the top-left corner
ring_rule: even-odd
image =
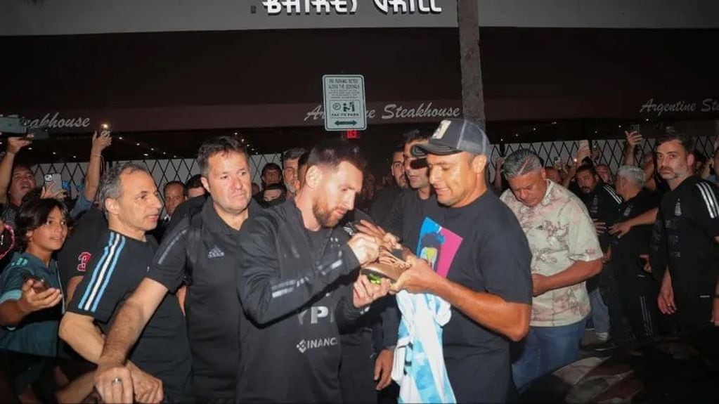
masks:
[[[75,290],[60,321],[59,334],[75,352],[99,364],[101,370],[101,352],[109,348],[104,336],[111,325],[118,325],[119,308],[127,308],[128,296],[152,265],[157,244],[152,237],[146,237],[146,232],[157,226],[162,202],[152,175],[134,163],[108,170],[101,180],[98,198],[108,221],[108,231],[100,236],[106,242],[104,248],[92,254],[88,263],[91,270]],[[191,399],[190,348],[175,296],[162,299],[157,315],[137,344],[132,345],[132,363],[128,362],[124,379],[129,395],[122,402],[130,403],[134,398],[140,403],[157,403],[163,396],[170,402]],[[116,385],[122,388],[121,382]],[[102,387],[99,390],[105,392]],[[120,396],[104,398],[114,403]]]

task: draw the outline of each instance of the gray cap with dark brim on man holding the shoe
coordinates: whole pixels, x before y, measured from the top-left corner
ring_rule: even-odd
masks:
[[[467,119],[444,119],[429,142],[412,147],[414,157],[454,155],[459,152],[487,155],[489,151],[490,141],[485,131]]]

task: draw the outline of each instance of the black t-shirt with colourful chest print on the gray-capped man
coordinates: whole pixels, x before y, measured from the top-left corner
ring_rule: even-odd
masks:
[[[447,279],[513,303],[531,304],[531,252],[516,216],[487,191],[447,208],[445,229],[462,237]],[[444,254],[444,247],[439,254]],[[452,307],[444,326],[444,362],[459,402],[503,402],[510,382],[510,342]]]

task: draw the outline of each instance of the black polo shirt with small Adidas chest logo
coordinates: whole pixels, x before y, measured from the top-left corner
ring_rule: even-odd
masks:
[[[232,229],[206,198],[201,211],[199,245],[192,268],[193,284],[185,299],[187,332],[192,350],[195,392],[202,398],[232,398],[239,366],[239,316],[237,298],[240,231]],[[254,201],[249,214],[260,208]],[[190,216],[185,215],[165,234],[152,269],[147,274],[175,292],[182,285],[188,255]]]

